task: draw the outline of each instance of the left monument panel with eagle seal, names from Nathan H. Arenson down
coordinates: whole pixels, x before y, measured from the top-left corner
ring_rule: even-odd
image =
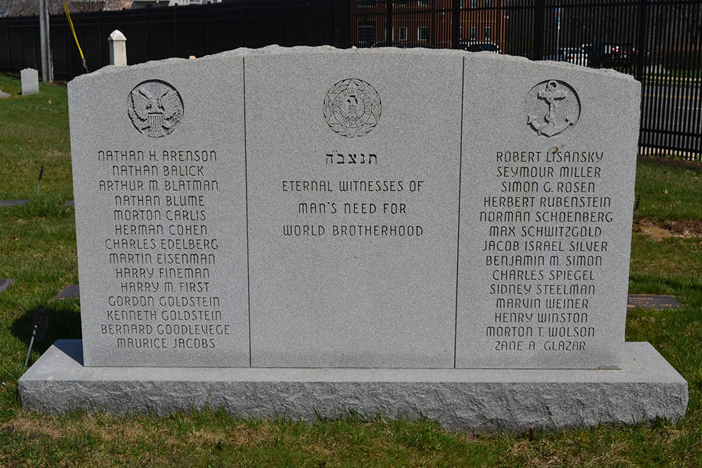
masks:
[[[86,366],[248,367],[241,57],[69,83]]]

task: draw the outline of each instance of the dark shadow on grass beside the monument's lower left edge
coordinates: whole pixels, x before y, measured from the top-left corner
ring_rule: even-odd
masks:
[[[10,330],[13,335],[29,346],[32,338],[32,318],[37,307],[44,305],[48,313],[48,327],[46,335],[37,342],[34,340],[32,349],[44,354],[53,342],[62,338],[81,338],[81,314],[79,313],[78,300],[57,300],[48,304],[37,304],[30,307],[27,312],[13,321]]]

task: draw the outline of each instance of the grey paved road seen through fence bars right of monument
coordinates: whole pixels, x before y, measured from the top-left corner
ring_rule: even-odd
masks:
[[[702,86],[644,85],[642,142],[702,152]],[[673,133],[691,135],[675,135]]]

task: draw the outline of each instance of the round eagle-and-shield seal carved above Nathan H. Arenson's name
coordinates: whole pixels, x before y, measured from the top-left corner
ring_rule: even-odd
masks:
[[[183,119],[183,100],[166,81],[142,81],[129,93],[128,114],[142,135],[160,138],[173,132]]]

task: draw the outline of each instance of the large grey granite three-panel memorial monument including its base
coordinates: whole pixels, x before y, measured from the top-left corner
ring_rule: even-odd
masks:
[[[495,54],[326,47],[81,76],[83,341],[22,377],[23,403],[54,362],[60,411],[86,407],[80,387],[91,408],[461,429],[684,415],[687,383],[624,343],[639,92]]]

